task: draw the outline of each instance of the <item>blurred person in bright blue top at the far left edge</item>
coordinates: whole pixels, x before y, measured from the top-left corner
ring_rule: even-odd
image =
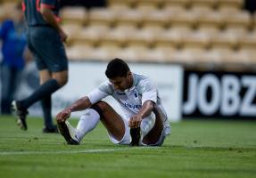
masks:
[[[22,69],[25,66],[24,56],[29,53],[26,47],[25,26],[21,5],[17,5],[12,12],[12,17],[4,20],[0,28],[2,41],[1,53],[1,113],[11,114],[11,103],[19,86]],[[27,59],[28,60],[28,59]]]

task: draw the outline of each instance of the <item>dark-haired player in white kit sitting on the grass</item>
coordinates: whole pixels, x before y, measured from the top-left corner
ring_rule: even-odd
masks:
[[[161,146],[170,134],[169,120],[149,77],[132,73],[128,64],[117,58],[108,63],[105,75],[109,80],[56,116],[66,142],[79,144],[101,120],[113,143]],[[123,117],[102,101],[109,95],[120,103]],[[67,121],[71,112],[84,109],[87,112],[80,117],[77,128],[72,127]]]

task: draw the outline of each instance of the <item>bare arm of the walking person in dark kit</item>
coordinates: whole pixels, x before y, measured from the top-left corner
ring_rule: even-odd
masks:
[[[57,20],[55,20],[55,17],[54,17],[54,12],[46,5],[44,4],[41,4],[40,5],[40,12],[44,18],[44,20],[50,25],[52,26],[53,28],[55,28],[61,38],[62,38],[62,41],[65,42],[66,39],[67,39],[67,35],[66,33],[62,30],[61,26],[59,25],[59,23],[57,22]]]

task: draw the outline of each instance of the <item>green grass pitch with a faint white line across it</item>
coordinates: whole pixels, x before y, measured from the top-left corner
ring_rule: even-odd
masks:
[[[252,121],[182,121],[160,148],[113,145],[101,124],[79,146],[43,134],[42,119],[28,125],[0,116],[0,177],[256,177]]]

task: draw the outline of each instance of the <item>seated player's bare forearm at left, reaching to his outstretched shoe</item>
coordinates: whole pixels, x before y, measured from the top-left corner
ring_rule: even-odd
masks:
[[[85,96],[78,101],[75,101],[68,108],[63,109],[59,114],[57,114],[57,122],[65,122],[70,117],[71,112],[87,109],[91,107],[91,105],[91,101],[87,96]]]

